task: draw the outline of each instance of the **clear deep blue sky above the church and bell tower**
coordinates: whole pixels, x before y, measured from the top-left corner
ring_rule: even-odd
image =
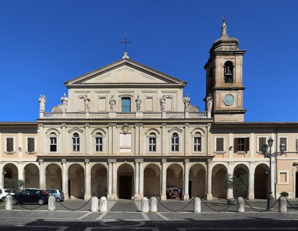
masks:
[[[221,33],[244,56],[246,121],[298,121],[297,1],[0,1],[0,121],[35,121],[67,93],[63,82],[121,59],[188,82],[204,110],[203,69]]]

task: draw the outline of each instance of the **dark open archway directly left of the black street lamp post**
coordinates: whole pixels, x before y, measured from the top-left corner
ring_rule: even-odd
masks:
[[[254,170],[254,198],[265,199],[268,195],[269,167],[266,164],[259,164]]]

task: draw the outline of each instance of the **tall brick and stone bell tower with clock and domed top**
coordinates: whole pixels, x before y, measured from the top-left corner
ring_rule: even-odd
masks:
[[[227,34],[224,19],[221,36],[212,45],[209,60],[204,66],[206,97],[210,93],[213,98],[212,117],[215,122],[244,121],[246,110],[243,108],[245,87],[242,81],[242,66],[245,50],[239,50],[238,43],[236,37],[229,37]]]

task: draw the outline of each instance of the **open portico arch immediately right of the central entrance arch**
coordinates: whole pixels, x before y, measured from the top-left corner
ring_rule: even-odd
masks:
[[[144,169],[144,197],[160,196],[160,168],[156,164],[148,164]]]

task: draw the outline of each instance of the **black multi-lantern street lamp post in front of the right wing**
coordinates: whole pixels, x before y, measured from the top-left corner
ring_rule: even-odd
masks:
[[[268,140],[268,144],[262,145],[262,153],[265,158],[269,158],[269,190],[268,190],[268,197],[267,197],[267,209],[272,209],[273,205],[273,197],[272,197],[272,188],[271,188],[271,157],[282,156],[284,151],[286,150],[286,144],[282,143],[280,145],[280,153],[277,151],[271,153],[271,147],[273,144],[273,139],[270,137]],[[268,152],[269,147],[269,152]]]

